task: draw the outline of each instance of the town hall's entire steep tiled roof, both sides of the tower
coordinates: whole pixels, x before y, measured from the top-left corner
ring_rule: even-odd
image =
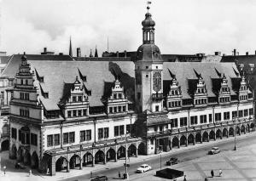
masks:
[[[44,83],[35,81],[34,84],[39,89],[42,88],[44,92],[49,92],[49,98],[44,99],[42,93],[38,91],[39,99],[47,110],[58,109],[58,104],[67,94],[67,89],[75,82],[76,76],[79,82],[84,83],[85,89],[91,91],[90,106],[102,105],[102,98],[108,97],[117,76],[128,99],[131,102],[134,101],[135,65],[132,61],[28,60],[28,62],[32,66],[32,71],[36,70],[39,77],[44,76]],[[233,88],[232,80],[240,78],[239,74],[236,74],[237,69],[234,63],[164,62],[163,67],[164,93],[168,91],[166,88],[172,82],[171,71],[181,86],[183,99],[191,98],[189,82],[196,82],[198,79],[196,74],[201,74],[205,81],[208,97],[216,96],[213,90],[214,79],[220,79],[225,74],[230,88]],[[231,94],[235,92],[231,90]]]

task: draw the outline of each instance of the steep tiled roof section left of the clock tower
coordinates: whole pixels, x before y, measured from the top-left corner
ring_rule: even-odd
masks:
[[[90,106],[101,106],[102,96],[105,95],[108,84],[115,80],[114,74],[119,76],[119,80],[125,88],[125,93],[130,101],[134,95],[134,63],[131,61],[111,62],[111,61],[28,61],[32,65],[32,70],[36,68],[39,76],[44,76],[44,91],[49,92],[49,99],[44,100],[40,96],[44,106],[56,107],[61,98],[65,96],[65,87],[75,82],[76,76],[80,77],[79,71],[86,76],[84,86],[91,91],[89,96]],[[79,69],[78,69],[79,68]],[[113,73],[114,71],[114,73]],[[80,82],[83,82],[79,78]],[[35,85],[38,87],[39,82]],[[107,85],[107,86],[106,86]],[[50,108],[47,108],[50,110]]]

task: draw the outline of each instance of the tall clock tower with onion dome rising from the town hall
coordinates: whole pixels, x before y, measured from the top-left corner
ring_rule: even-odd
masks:
[[[149,9],[149,7],[147,7]],[[135,61],[135,100],[138,112],[163,110],[163,60],[160,49],[154,44],[154,20],[145,14],[143,45],[137,49]]]

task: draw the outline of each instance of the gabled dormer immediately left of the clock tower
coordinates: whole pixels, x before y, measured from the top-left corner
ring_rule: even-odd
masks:
[[[107,100],[103,100],[107,106],[107,114],[127,113],[128,100],[124,93],[124,88],[121,86],[119,79],[113,82],[111,94]]]

